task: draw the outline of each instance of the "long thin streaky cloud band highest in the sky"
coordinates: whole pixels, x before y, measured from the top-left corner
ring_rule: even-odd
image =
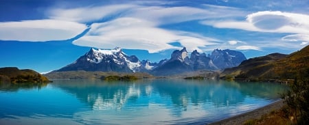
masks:
[[[139,3],[139,4],[136,4]],[[154,3],[153,1],[151,3]],[[145,4],[145,5],[143,5]],[[171,4],[171,3],[168,3]],[[70,20],[80,23],[100,22],[102,19],[141,18],[160,23],[180,23],[188,20],[202,20],[206,18],[224,18],[243,15],[237,8],[203,4],[203,8],[189,6],[159,6],[148,5],[148,2],[132,2],[118,5],[89,6],[83,8],[49,10],[49,18]]]

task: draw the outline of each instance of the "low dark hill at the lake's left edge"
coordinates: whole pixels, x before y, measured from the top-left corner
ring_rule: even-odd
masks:
[[[49,79],[40,73],[16,67],[0,68],[0,83],[49,83]]]

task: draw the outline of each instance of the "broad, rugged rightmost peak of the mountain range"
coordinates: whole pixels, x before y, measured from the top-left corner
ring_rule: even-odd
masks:
[[[215,49],[211,53],[210,58],[214,65],[220,69],[238,66],[242,61],[247,59],[241,52],[229,49]]]

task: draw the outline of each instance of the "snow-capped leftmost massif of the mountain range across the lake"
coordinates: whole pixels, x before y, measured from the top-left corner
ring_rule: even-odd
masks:
[[[128,56],[119,47],[111,50],[91,48],[88,53],[82,55],[73,64],[69,64],[57,71],[136,72],[140,66],[141,62],[135,55]]]

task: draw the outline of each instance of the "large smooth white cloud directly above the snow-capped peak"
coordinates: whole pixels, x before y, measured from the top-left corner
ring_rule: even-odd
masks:
[[[170,48],[179,48],[169,43],[179,42],[186,46],[188,51],[198,46],[212,44],[205,37],[197,37],[194,33],[168,31],[157,27],[156,23],[139,18],[117,18],[106,23],[94,23],[90,31],[82,38],[73,41],[79,46],[95,46],[98,48],[113,48],[121,46],[126,49],[148,50],[157,53]]]

